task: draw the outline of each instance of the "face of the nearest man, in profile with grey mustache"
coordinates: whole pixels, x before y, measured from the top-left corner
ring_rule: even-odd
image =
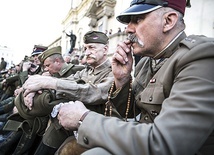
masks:
[[[134,40],[137,42],[132,44],[133,53],[151,57],[156,55],[162,42],[162,27],[162,17],[156,11],[132,16],[126,32],[136,37]]]

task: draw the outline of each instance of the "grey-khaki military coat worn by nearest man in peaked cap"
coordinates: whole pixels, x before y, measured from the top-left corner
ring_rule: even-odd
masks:
[[[183,33],[165,49],[161,65],[152,61],[141,59],[132,88],[140,123],[90,112],[78,143],[117,155],[213,154],[214,39]],[[126,105],[126,88],[115,106]]]

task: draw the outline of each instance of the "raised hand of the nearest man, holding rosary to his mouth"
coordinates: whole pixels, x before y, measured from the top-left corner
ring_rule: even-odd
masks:
[[[132,71],[133,57],[131,53],[131,42],[125,40],[119,42],[115,54],[112,57],[112,72],[116,87],[122,87],[129,81]]]

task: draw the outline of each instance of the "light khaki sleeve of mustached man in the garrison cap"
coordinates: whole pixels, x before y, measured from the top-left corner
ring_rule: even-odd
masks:
[[[58,79],[57,93],[62,93],[65,98],[70,100],[82,101],[86,105],[105,103],[108,97],[108,90],[114,80],[112,72],[103,77],[99,83],[88,82],[81,84],[77,83],[76,79],[78,78],[73,80]]]

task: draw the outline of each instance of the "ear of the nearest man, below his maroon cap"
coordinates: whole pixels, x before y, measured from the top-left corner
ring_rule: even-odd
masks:
[[[178,13],[176,12],[168,12],[164,15],[164,26],[163,32],[166,33],[173,29],[178,21]]]

